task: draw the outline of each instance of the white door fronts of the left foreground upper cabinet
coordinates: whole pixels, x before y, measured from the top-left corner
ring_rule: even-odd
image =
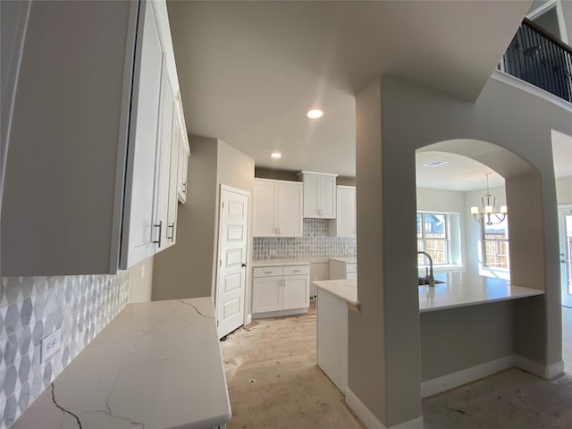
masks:
[[[121,268],[152,257],[175,242],[177,199],[172,175],[178,175],[181,120],[175,103],[178,88],[172,82],[176,74],[168,62],[170,31],[161,5],[141,4],[139,15],[143,25],[139,25],[137,41],[141,49],[136,50],[135,108],[128,150],[128,170],[132,165],[133,174],[128,175],[125,187]],[[157,64],[162,65],[160,71],[156,71]],[[141,157],[147,162],[140,162]]]

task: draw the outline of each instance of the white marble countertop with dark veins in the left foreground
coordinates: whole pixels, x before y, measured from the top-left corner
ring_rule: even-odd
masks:
[[[130,304],[13,429],[205,428],[231,419],[210,298]]]

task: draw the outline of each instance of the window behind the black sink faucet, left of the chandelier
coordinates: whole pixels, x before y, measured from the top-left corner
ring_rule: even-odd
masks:
[[[449,215],[417,213],[417,250],[427,252],[433,264],[449,264]],[[417,255],[417,264],[426,265],[423,255]]]

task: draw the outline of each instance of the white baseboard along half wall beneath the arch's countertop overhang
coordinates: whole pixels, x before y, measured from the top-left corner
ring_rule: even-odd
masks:
[[[448,391],[462,384],[471,383],[487,375],[499,373],[515,366],[514,355],[501,357],[481,365],[471,366],[457,373],[443,375],[421,383],[421,398]]]

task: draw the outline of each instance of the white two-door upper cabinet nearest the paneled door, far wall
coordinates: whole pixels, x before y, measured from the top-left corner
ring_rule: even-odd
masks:
[[[254,181],[254,237],[301,237],[303,185],[298,181]]]

